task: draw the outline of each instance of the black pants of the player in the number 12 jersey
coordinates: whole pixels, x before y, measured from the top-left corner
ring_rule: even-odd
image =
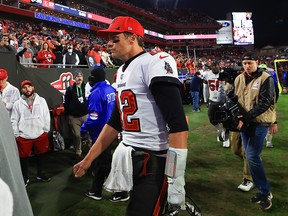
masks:
[[[126,215],[152,216],[166,180],[166,157],[155,156],[151,152],[133,151],[132,160],[133,190],[130,192],[131,199]]]

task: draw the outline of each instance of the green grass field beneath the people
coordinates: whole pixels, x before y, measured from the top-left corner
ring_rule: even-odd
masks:
[[[265,148],[262,160],[271,184],[273,206],[262,212],[250,197],[257,192],[241,192],[243,161],[231,150],[216,141],[216,129],[209,123],[207,108],[189,117],[189,155],[186,170],[186,192],[201,208],[204,216],[284,216],[288,212],[288,96],[281,95],[277,107],[278,133],[273,137],[274,148]],[[286,129],[285,129],[286,128]],[[76,158],[71,150],[50,153],[47,163],[52,176],[49,183],[31,182],[27,191],[35,216],[115,216],[125,215],[127,203],[111,203],[104,191],[102,201],[86,198],[84,192],[91,185],[91,176],[75,179],[72,166]],[[35,175],[33,161],[31,176]]]

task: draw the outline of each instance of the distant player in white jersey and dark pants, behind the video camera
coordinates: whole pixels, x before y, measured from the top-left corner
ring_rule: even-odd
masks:
[[[218,130],[219,141],[223,141],[223,147],[230,147],[229,132],[223,127],[222,123],[215,121],[215,111],[219,105],[225,101],[225,81],[219,80],[220,65],[217,62],[211,64],[211,70],[203,73],[203,78],[208,85],[209,89],[209,107],[208,117],[210,123]]]

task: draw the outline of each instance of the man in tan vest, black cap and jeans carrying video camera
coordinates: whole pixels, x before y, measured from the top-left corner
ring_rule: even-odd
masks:
[[[268,128],[276,122],[276,96],[274,80],[271,75],[258,67],[255,52],[247,52],[242,57],[244,73],[234,81],[235,95],[242,107],[237,129],[240,130],[248,167],[258,193],[251,198],[252,203],[260,203],[262,210],[272,206],[270,185],[261,160]],[[272,129],[273,133],[277,128]]]

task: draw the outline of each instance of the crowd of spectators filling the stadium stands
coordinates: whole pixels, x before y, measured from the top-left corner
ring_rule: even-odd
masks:
[[[121,65],[121,61],[111,58],[107,51],[106,40],[95,33],[84,29],[68,27],[59,28],[56,24],[42,22],[36,25],[25,18],[18,20],[7,17],[0,21],[2,40],[0,50],[12,51],[19,62],[27,67],[88,66],[86,57],[93,56],[96,64],[103,67]],[[45,43],[48,44],[44,46]],[[145,44],[151,53],[166,51],[177,62],[177,68],[194,73],[209,65],[211,61],[220,62],[221,67],[234,66],[241,62],[241,55],[246,51],[243,47],[225,46],[219,48],[201,48],[193,50],[177,50],[173,47]],[[70,48],[70,50],[69,50]],[[71,50],[72,48],[72,50]],[[68,58],[66,58],[68,57]],[[261,56],[261,63],[273,68],[273,61],[279,56]],[[55,66],[56,67],[56,66]],[[281,69],[283,72],[287,68]]]

